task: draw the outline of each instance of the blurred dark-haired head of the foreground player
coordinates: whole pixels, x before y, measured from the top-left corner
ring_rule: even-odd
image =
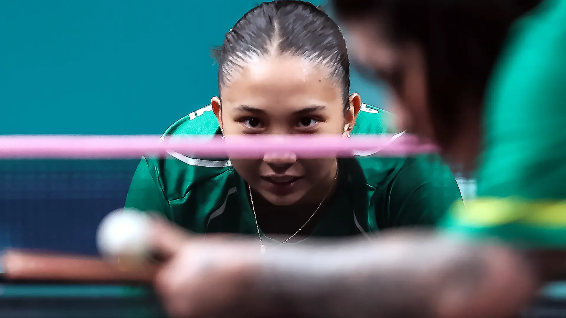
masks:
[[[454,162],[479,152],[488,79],[513,22],[540,0],[334,0],[350,49],[389,88],[398,124]],[[371,39],[371,40],[369,40]],[[351,42],[351,43],[350,43]]]

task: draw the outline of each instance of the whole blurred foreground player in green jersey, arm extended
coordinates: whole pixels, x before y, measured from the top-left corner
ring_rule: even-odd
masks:
[[[445,230],[260,255],[156,221],[178,316],[508,317],[564,268],[566,2],[335,0],[398,125],[479,171]],[[532,10],[532,11],[531,11]],[[473,239],[470,239],[473,238]],[[501,242],[503,241],[503,242]],[[499,243],[500,242],[500,243]]]

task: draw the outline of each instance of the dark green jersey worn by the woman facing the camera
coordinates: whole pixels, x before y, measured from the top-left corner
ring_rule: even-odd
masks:
[[[173,124],[165,135],[220,134],[212,106]],[[389,132],[383,110],[362,105],[352,134]],[[454,177],[438,156],[338,161],[338,187],[312,235],[367,234],[388,227],[435,225],[456,200]],[[195,233],[256,234],[246,186],[228,158],[210,160],[170,152],[142,158],[126,207],[162,213]]]

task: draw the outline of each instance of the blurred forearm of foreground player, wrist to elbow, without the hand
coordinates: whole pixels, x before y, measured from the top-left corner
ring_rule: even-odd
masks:
[[[426,233],[268,251],[252,277],[285,317],[507,317],[537,287],[517,253]]]

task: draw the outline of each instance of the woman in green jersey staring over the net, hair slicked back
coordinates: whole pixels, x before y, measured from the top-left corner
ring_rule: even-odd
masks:
[[[350,94],[346,43],[335,22],[302,1],[252,8],[218,49],[211,105],[164,136],[397,132],[386,111]],[[308,237],[436,226],[460,191],[437,155],[263,160],[143,158],[126,207],[158,212],[191,233],[254,235],[262,248]]]

